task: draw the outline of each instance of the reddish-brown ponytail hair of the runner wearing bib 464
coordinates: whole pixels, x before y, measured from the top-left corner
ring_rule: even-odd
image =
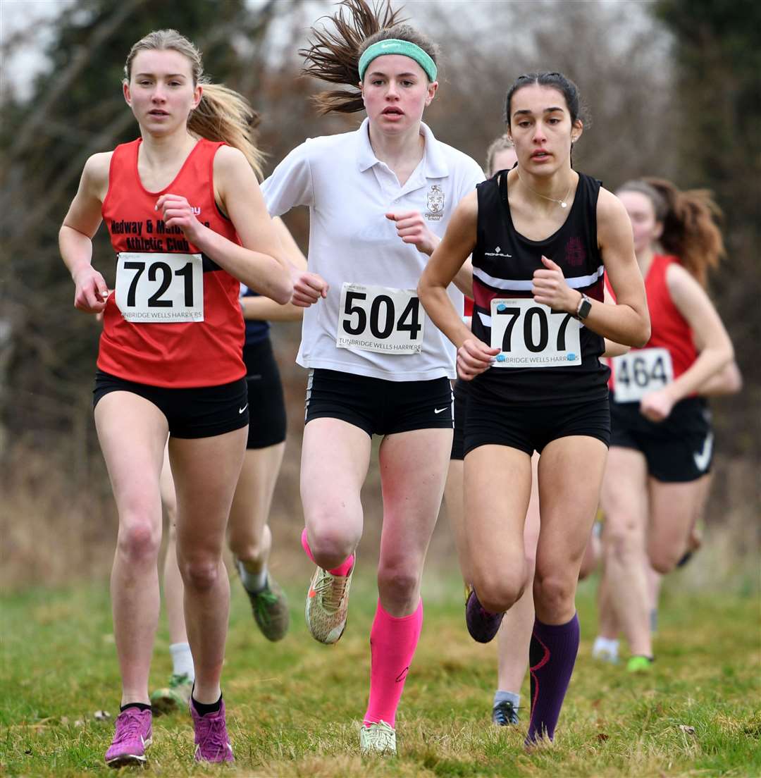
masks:
[[[644,177],[627,181],[616,191],[636,191],[653,204],[655,219],[663,224],[661,247],[679,257],[701,286],[726,251],[717,224],[723,217],[714,195],[707,189],[680,191],[664,178]]]

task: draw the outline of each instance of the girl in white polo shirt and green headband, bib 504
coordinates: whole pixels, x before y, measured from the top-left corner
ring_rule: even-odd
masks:
[[[383,438],[380,598],[360,731],[362,750],[375,752],[396,748],[395,714],[423,622],[420,579],[452,440],[454,349],[415,289],[454,206],[483,180],[472,159],[421,122],[437,92],[437,50],[397,16],[386,9],[377,19],[364,0],[345,0],[335,31],[313,30],[305,71],[351,85],[318,96],[321,112],[367,117],[356,131],[293,149],[262,185],[272,216],[310,209],[308,272],[294,279],[293,302],[307,309],[297,362],[310,370],[302,542],[317,570],[306,616],[322,643],[335,643],[345,628],[363,529],[359,491],[372,436]],[[456,283],[467,289],[469,276],[466,266]],[[448,293],[462,310],[462,293]]]

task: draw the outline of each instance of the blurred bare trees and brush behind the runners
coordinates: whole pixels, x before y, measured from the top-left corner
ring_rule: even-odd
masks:
[[[212,79],[261,112],[261,146],[273,166],[304,138],[346,131],[361,120],[359,114],[318,118],[309,98],[319,85],[300,77],[296,52],[331,7],[324,0],[68,0],[57,15],[30,18],[4,34],[0,583],[53,582],[72,571],[100,575],[110,566],[116,517],[91,409],[99,327],[72,307],[57,234],[87,157],[136,135],[121,96],[129,48],[162,27],[194,40]],[[482,162],[503,131],[510,82],[521,72],[560,70],[580,86],[593,119],[574,152],[578,168],[611,189],[630,177],[657,175],[682,188],[714,190],[728,258],[711,291],[745,387],[738,397],[714,402],[719,456],[710,521],[752,526],[761,452],[761,5],[412,0],[406,12],[442,49],[441,86],[425,119],[444,142]],[[5,63],[39,40],[45,25],[45,64],[23,93]],[[306,250],[306,213],[292,214],[288,223]],[[112,282],[103,228],[93,257]],[[273,328],[290,433],[273,506],[276,538],[283,532],[277,527],[290,531],[302,521],[305,375],[293,363],[298,338],[298,325]],[[375,477],[365,498],[370,521],[380,516]],[[733,546],[752,552],[757,540],[752,531],[738,532]],[[447,542],[441,541],[443,553],[451,551]]]

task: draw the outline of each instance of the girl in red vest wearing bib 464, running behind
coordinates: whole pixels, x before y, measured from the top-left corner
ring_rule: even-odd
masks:
[[[629,641],[627,669],[636,672],[653,661],[647,568],[674,569],[703,503],[714,436],[698,395],[722,391],[714,384],[736,371],[705,290],[724,254],[710,194],[657,179],[630,181],[617,194],[631,219],[652,333],[643,349],[613,360],[602,601]]]

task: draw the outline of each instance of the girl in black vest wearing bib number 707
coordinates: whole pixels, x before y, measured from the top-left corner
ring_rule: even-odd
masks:
[[[571,167],[584,127],[577,87],[560,73],[522,75],[506,114],[517,166],[458,205],[418,292],[458,347],[458,375],[472,382],[465,533],[474,591],[466,621],[482,642],[526,585],[524,517],[531,454],[540,454],[532,744],[553,737],[579,644],[576,582],[610,440],[603,338],[641,346],[650,321],[626,210]],[[445,292],[469,254],[472,331]],[[616,306],[603,302],[603,272]]]

